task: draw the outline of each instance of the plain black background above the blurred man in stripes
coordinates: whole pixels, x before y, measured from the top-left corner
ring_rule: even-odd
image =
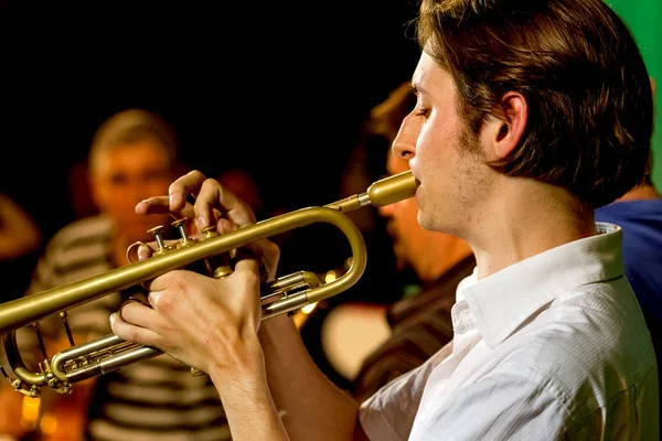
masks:
[[[46,235],[73,218],[72,164],[128,107],[164,116],[191,166],[249,169],[267,204],[330,203],[360,121],[418,57],[412,0],[90,4],[0,14],[1,190]]]

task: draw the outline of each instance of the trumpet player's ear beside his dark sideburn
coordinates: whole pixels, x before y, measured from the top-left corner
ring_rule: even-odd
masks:
[[[488,161],[505,159],[517,147],[528,120],[528,107],[524,96],[509,92],[501,99],[501,107],[490,116],[483,132]]]

